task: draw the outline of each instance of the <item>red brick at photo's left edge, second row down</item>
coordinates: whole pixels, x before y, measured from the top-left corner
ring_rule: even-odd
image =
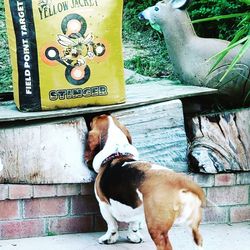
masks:
[[[0,220],[18,219],[19,216],[18,201],[0,201]]]

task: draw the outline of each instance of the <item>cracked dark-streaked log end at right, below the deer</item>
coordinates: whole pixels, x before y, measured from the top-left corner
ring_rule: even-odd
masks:
[[[250,170],[250,108],[194,117],[189,124],[191,166],[199,172]]]

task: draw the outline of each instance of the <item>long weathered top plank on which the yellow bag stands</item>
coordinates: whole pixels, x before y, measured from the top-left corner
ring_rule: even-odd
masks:
[[[121,110],[139,107],[163,101],[169,101],[184,97],[210,95],[217,93],[215,89],[196,86],[176,85],[170,81],[152,81],[147,84],[133,84],[127,86],[127,101],[123,104],[72,108],[43,112],[20,112],[13,102],[0,102],[0,122],[18,120],[37,120],[54,117],[67,117],[89,113]]]

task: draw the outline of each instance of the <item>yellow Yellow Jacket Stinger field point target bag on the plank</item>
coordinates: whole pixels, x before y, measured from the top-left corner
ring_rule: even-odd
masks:
[[[5,0],[17,107],[124,102],[122,7],[122,0]]]

